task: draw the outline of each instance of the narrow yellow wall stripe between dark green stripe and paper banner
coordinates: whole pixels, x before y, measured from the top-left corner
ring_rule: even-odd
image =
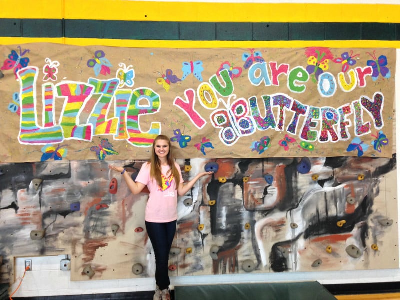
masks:
[[[390,40],[290,40],[290,41],[191,41],[191,40],[131,40],[101,38],[27,38],[0,37],[0,44],[50,42],[78,46],[101,45],[130,48],[293,48],[293,47],[340,47],[340,48],[400,48],[400,41]]]

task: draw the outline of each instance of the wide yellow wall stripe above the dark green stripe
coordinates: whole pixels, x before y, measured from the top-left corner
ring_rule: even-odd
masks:
[[[396,4],[0,0],[0,18],[194,22],[400,22]]]

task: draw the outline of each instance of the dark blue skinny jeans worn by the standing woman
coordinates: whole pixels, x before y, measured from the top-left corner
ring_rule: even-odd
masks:
[[[172,241],[176,233],[176,220],[169,223],[146,221],[146,229],[155,254],[155,283],[159,289],[168,288],[168,260]]]

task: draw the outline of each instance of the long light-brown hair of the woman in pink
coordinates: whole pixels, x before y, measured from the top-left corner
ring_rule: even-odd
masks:
[[[166,135],[158,135],[154,141],[153,141],[153,150],[151,153],[151,157],[150,157],[150,177],[155,179],[157,181],[158,186],[162,186],[162,177],[161,177],[161,164],[160,161],[158,159],[157,154],[155,153],[155,143],[158,140],[165,140],[168,142],[169,145],[169,152],[168,155],[166,156],[166,160],[167,163],[169,165],[169,170],[167,172],[167,175],[173,175],[173,177],[175,178],[175,182],[176,182],[176,189],[179,186],[180,183],[180,175],[179,175],[179,171],[175,166],[175,159],[173,158],[172,155],[172,151],[171,151],[171,141],[169,140],[169,137]]]

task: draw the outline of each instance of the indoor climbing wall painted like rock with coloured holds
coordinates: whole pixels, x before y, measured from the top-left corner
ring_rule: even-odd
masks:
[[[396,158],[178,160],[173,275],[398,267]],[[105,161],[1,165],[2,278],[14,256],[71,255],[71,279],[149,277],[147,193]],[[134,178],[143,161],[113,161]]]

